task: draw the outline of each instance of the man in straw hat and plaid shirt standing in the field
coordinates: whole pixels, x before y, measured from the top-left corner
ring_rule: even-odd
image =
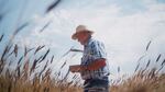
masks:
[[[81,64],[70,66],[72,72],[79,72],[85,80],[84,92],[108,92],[109,91],[109,66],[107,54],[101,42],[92,38],[94,32],[85,25],[76,27],[72,38],[84,45]]]

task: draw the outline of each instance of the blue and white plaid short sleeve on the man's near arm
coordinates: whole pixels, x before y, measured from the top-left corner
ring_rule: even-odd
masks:
[[[94,60],[100,58],[107,58],[105,45],[101,42],[95,41],[90,44],[90,56]]]

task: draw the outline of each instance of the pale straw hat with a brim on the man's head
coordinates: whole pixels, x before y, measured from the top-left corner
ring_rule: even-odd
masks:
[[[72,38],[73,38],[73,39],[77,39],[77,35],[80,34],[80,33],[84,33],[84,32],[87,32],[87,33],[89,33],[90,35],[94,34],[94,32],[90,31],[90,30],[88,30],[87,26],[85,26],[85,25],[78,25],[78,26],[76,27],[76,33],[73,34]]]

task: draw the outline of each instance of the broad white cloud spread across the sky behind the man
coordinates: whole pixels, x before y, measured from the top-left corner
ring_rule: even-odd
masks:
[[[42,44],[66,48],[73,44],[70,35],[75,32],[75,27],[78,24],[86,24],[96,32],[95,37],[105,42],[110,64],[120,66],[123,72],[127,72],[133,70],[135,61],[145,53],[145,46],[151,39],[164,42],[165,4],[145,0],[144,5],[146,11],[130,15],[121,15],[124,13],[121,12],[122,7],[116,3],[101,8],[91,5],[82,9],[64,8],[51,12],[47,16],[35,15],[36,27],[31,31],[30,37],[25,41],[35,39]],[[53,23],[44,32],[38,33],[38,30],[50,20],[53,20]],[[162,44],[158,43],[156,49],[152,51],[163,49]]]

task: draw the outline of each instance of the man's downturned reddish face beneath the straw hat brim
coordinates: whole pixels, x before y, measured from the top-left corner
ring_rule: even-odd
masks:
[[[86,43],[88,36],[89,36],[89,35],[88,35],[88,33],[86,33],[86,32],[79,33],[79,34],[77,35],[77,41],[78,41],[81,45],[85,45],[85,43]]]

